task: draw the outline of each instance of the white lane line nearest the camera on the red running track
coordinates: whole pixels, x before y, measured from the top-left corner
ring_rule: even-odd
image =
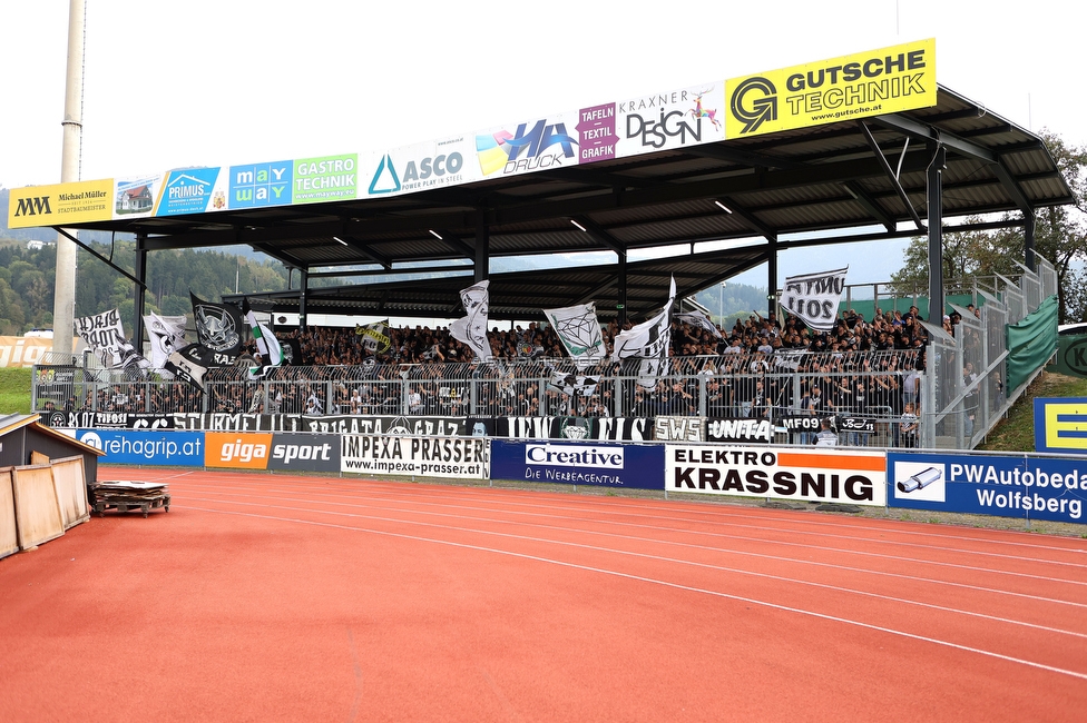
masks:
[[[242,516],[242,517],[255,517],[255,518],[258,518],[258,519],[272,519],[272,521],[277,521],[277,522],[290,522],[290,523],[296,523],[296,524],[303,524],[303,525],[314,525],[314,526],[320,526],[320,527],[331,527],[331,528],[336,528],[336,529],[347,529],[347,531],[351,531],[351,532],[361,532],[361,533],[369,533],[369,534],[374,534],[374,535],[383,535],[383,536],[396,537],[396,538],[401,538],[401,539],[411,539],[411,541],[415,541],[415,542],[425,542],[425,543],[432,543],[432,544],[438,544],[438,545],[448,545],[448,546],[451,546],[451,547],[460,547],[460,548],[463,548],[463,549],[473,549],[473,551],[477,551],[477,552],[486,552],[486,553],[492,553],[492,554],[498,554],[498,555],[507,555],[507,556],[511,556],[511,557],[519,557],[521,559],[531,559],[531,561],[535,561],[535,562],[541,562],[541,563],[546,563],[546,564],[550,564],[550,565],[558,565],[558,566],[561,566],[561,567],[570,567],[570,568],[574,568],[574,570],[582,570],[582,571],[586,571],[586,572],[599,573],[599,574],[603,574],[603,575],[611,575],[611,576],[615,576],[615,577],[621,577],[621,578],[625,578],[625,580],[633,580],[633,581],[636,581],[636,582],[649,583],[649,584],[653,584],[653,585],[660,585],[660,586],[664,586],[664,587],[670,587],[670,588],[674,588],[674,590],[682,590],[682,591],[685,591],[685,592],[701,593],[701,594],[704,594],[704,595],[713,595],[715,597],[722,597],[722,598],[725,598],[725,600],[733,600],[733,601],[736,601],[736,602],[748,603],[748,604],[752,604],[752,605],[760,605],[760,606],[763,606],[763,607],[768,607],[768,608],[772,608],[772,610],[778,610],[778,611],[786,612],[786,613],[795,613],[795,614],[800,614],[800,615],[807,615],[807,616],[816,617],[816,618],[820,618],[820,620],[825,620],[825,621],[830,621],[830,622],[834,622],[834,623],[841,623],[841,624],[844,624],[844,625],[853,625],[853,626],[856,626],[856,627],[862,627],[862,628],[870,630],[870,631],[885,633],[885,634],[889,634],[889,635],[898,635],[898,636],[901,636],[901,637],[905,637],[908,640],[915,640],[915,641],[920,641],[920,642],[924,642],[924,643],[931,643],[931,644],[934,644],[934,645],[941,645],[941,646],[950,647],[950,648],[953,648],[953,650],[959,650],[959,651],[963,651],[963,652],[968,652],[968,653],[975,653],[975,654],[978,654],[978,655],[983,655],[986,657],[992,657],[992,658],[1006,661],[1006,662],[1009,662],[1009,663],[1017,663],[1019,665],[1026,665],[1028,667],[1034,667],[1034,668],[1041,670],[1041,671],[1047,671],[1047,672],[1050,672],[1050,673],[1057,673],[1057,674],[1060,674],[1060,675],[1068,675],[1070,677],[1075,677],[1075,679],[1078,679],[1078,680],[1087,681],[1087,673],[1078,673],[1076,671],[1069,671],[1069,670],[1065,670],[1065,668],[1060,668],[1060,667],[1055,667],[1052,665],[1046,665],[1044,663],[1036,663],[1034,661],[1028,661],[1028,660],[1024,660],[1024,658],[1019,658],[1019,657],[1012,657],[1010,655],[1002,655],[1000,653],[996,653],[996,652],[992,652],[992,651],[985,651],[985,650],[981,650],[981,648],[978,648],[978,647],[971,647],[969,645],[960,645],[958,643],[952,643],[950,641],[942,641],[942,640],[939,640],[939,638],[936,638],[936,637],[928,637],[928,636],[924,636],[924,635],[918,635],[915,633],[908,633],[905,631],[899,631],[899,630],[894,630],[894,628],[891,628],[891,627],[883,627],[881,625],[873,625],[871,623],[862,623],[860,621],[849,620],[846,617],[839,617],[839,616],[835,616],[835,615],[828,615],[825,613],[817,613],[815,611],[803,610],[803,608],[800,608],[800,607],[792,607],[792,606],[789,606],[789,605],[781,605],[778,603],[771,603],[771,602],[767,602],[767,601],[761,601],[761,600],[756,600],[756,598],[753,598],[753,597],[744,597],[742,595],[731,595],[728,593],[723,593],[723,592],[719,592],[719,591],[706,590],[706,588],[702,588],[702,587],[693,587],[693,586],[689,586],[689,585],[680,585],[678,583],[669,583],[667,581],[655,580],[655,578],[652,578],[652,577],[645,577],[645,576],[640,576],[640,575],[631,575],[629,573],[623,573],[623,572],[614,571],[614,570],[605,570],[603,567],[593,567],[593,566],[588,566],[588,565],[578,565],[576,563],[568,563],[568,562],[564,562],[564,561],[559,561],[559,559],[552,559],[552,558],[549,558],[549,557],[540,557],[540,556],[537,556],[537,555],[528,555],[528,554],[525,554],[525,553],[516,553],[516,552],[511,552],[511,551],[497,549],[497,548],[493,548],[493,547],[484,547],[484,546],[481,546],[481,545],[469,545],[469,544],[466,544],[466,543],[457,543],[457,542],[452,542],[452,541],[448,541],[448,539],[435,539],[435,538],[431,538],[431,537],[422,537],[422,536],[419,536],[419,535],[408,535],[408,534],[403,534],[403,533],[383,532],[383,531],[376,531],[376,529],[365,529],[365,528],[360,528],[360,527],[352,527],[350,525],[337,525],[337,524],[333,524],[333,523],[316,522],[316,521],[310,521],[310,519],[297,519],[297,518],[292,518],[292,517],[276,517],[276,516],[273,516],[273,515],[257,515],[257,514],[244,513],[244,512],[228,512],[228,511],[221,511],[221,509],[210,509],[210,508],[205,508],[205,507],[189,507],[189,508],[190,509],[199,509],[200,512],[208,512],[208,513],[213,513],[213,514],[235,515],[235,516]]]

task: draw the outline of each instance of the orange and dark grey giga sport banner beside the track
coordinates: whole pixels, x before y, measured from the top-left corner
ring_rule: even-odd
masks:
[[[325,435],[208,432],[204,439],[207,467],[340,472],[340,440]]]

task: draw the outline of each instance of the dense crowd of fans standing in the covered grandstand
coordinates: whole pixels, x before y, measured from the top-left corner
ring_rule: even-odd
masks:
[[[972,310],[972,309],[971,309]],[[956,334],[957,315],[943,319]],[[629,325],[628,325],[629,326]],[[356,328],[319,327],[281,333],[281,343],[301,351],[293,365],[267,382],[212,374],[207,399],[183,384],[99,387],[81,404],[98,412],[404,414],[433,416],[691,416],[777,420],[784,415],[909,419],[919,413],[920,370],[928,335],[917,307],[882,313],[871,320],[853,310],[829,331],[800,319],[784,323],[751,315],[714,333],[674,321],[669,368],[653,388],[636,383],[634,367],[613,363],[586,370],[588,382],[552,377],[549,359],[564,356],[555,330],[536,323],[488,334],[497,359],[479,364],[447,327],[384,329],[388,347]],[[619,333],[601,329],[610,353]],[[251,348],[251,354],[256,349]],[[805,354],[806,353],[806,354]],[[532,363],[532,361],[536,363]],[[569,365],[567,365],[569,368]],[[241,374],[241,370],[238,370]],[[149,398],[145,398],[148,395]],[[617,398],[621,397],[621,398]],[[206,405],[206,406],[205,406]],[[909,425],[897,424],[899,430]],[[915,423],[913,424],[915,429]],[[806,436],[806,433],[805,433]],[[864,439],[851,435],[858,444]]]

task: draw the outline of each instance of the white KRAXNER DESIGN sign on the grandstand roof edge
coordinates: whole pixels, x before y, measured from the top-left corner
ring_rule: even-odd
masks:
[[[721,81],[639,96],[615,107],[619,158],[725,139]]]

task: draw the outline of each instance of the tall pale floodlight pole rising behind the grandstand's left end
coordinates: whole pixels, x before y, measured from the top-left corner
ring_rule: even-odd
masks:
[[[84,95],[84,0],[68,3],[68,75],[65,82],[63,149],[60,182],[79,180],[79,155],[82,136]],[[52,350],[72,353],[71,337],[76,317],[76,245],[57,235],[57,291],[52,306]]]

